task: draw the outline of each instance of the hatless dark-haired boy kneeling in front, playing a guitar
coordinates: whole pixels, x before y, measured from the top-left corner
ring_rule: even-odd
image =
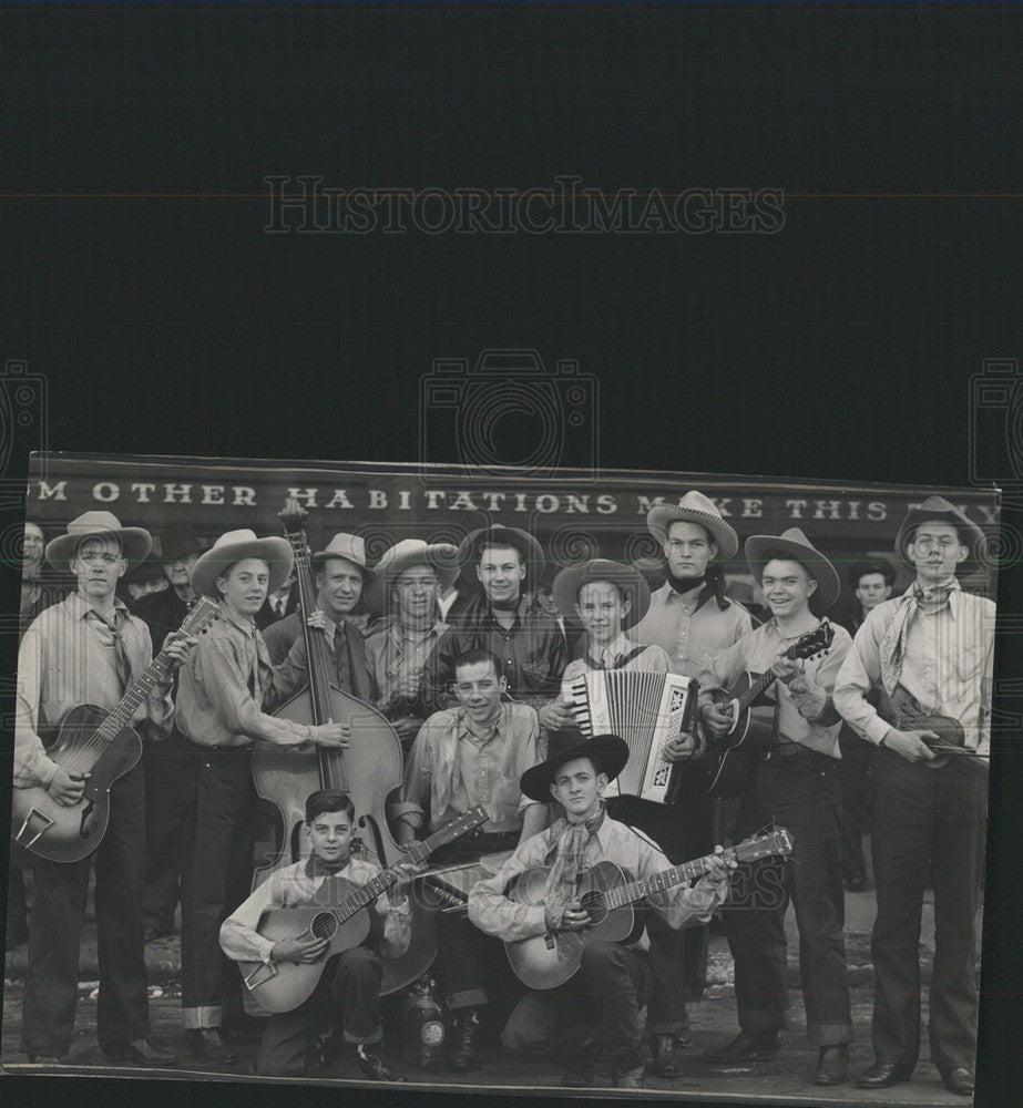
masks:
[[[256,930],[270,909],[309,904],[327,878],[340,875],[365,885],[380,873],[378,866],[349,854],[355,806],[347,792],[321,789],[306,801],[305,833],[313,844],[308,859],[277,870],[221,926],[221,946],[235,962],[316,962],[328,940],[308,929],[275,942]],[[369,905],[370,930],[365,943],[335,955],[324,967],[313,995],[291,1012],[270,1016],[256,1059],[257,1073],[268,1077],[306,1077],[316,1058],[317,1039],[337,1024],[344,1039],[355,1046],[359,1069],[370,1080],[402,1080],[392,1074],[380,1053],[381,958],[400,957],[411,936],[406,885],[415,869],[400,865],[391,895],[381,893]]]

